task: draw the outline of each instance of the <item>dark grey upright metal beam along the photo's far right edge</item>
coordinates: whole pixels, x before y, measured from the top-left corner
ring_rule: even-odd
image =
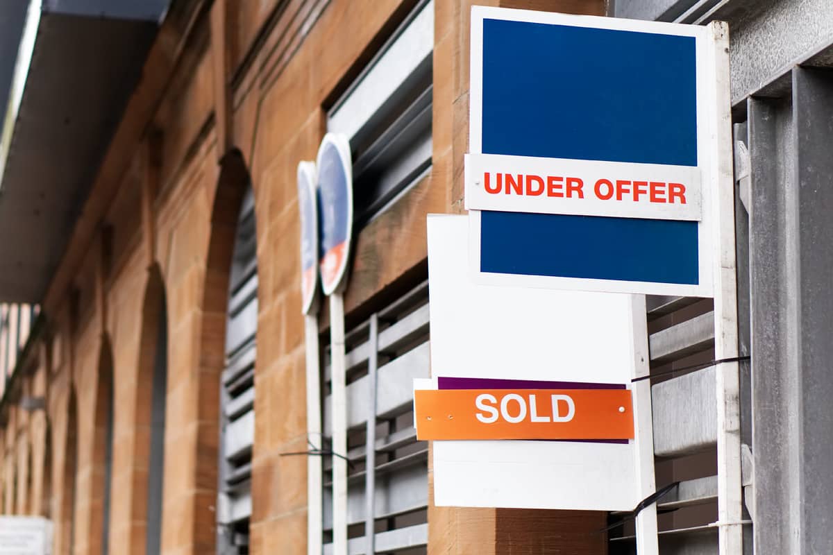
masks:
[[[792,97],[798,216],[799,553],[833,553],[833,77],[823,70],[795,67]]]

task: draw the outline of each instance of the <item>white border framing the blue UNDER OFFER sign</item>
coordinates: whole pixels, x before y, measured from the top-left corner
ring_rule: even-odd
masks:
[[[698,278],[699,283],[673,284],[631,280],[592,280],[545,275],[500,274],[481,271],[481,221],[478,210],[471,210],[471,272],[476,281],[491,285],[525,285],[536,288],[569,290],[594,290],[621,293],[644,293],[651,295],[682,295],[711,297],[718,288],[714,280],[714,245],[720,244],[721,229],[725,221],[719,218],[733,217],[731,211],[718,210],[716,203],[721,196],[715,195],[715,188],[722,186],[720,168],[731,166],[731,141],[723,141],[721,125],[731,118],[728,98],[718,90],[721,75],[728,74],[728,56],[717,52],[716,42],[721,40],[713,26],[681,25],[678,23],[647,22],[615,17],[575,16],[553,12],[535,12],[500,7],[471,7],[471,67],[469,90],[469,151],[472,156],[482,155],[482,107],[483,107],[483,21],[500,19],[516,22],[594,27],[618,31],[658,33],[696,38],[696,110],[697,110],[697,152],[701,170],[702,218],[698,225]],[[724,141],[725,142],[725,141]],[[467,189],[470,186],[466,185]],[[467,201],[467,199],[466,199]],[[507,210],[507,209],[504,209]],[[627,217],[627,215],[622,215]]]

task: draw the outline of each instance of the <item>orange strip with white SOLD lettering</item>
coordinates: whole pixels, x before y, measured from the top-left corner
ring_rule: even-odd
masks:
[[[418,389],[416,439],[633,439],[629,389]]]

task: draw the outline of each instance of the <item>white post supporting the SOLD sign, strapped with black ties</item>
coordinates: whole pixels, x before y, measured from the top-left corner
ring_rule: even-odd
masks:
[[[645,295],[631,295],[631,338],[633,344],[633,378],[647,376],[651,369],[648,354],[648,323]],[[651,380],[642,379],[631,388],[633,395],[634,439],[636,440],[636,480],[639,498],[656,491],[654,478],[654,422],[651,411]],[[658,555],[656,503],[636,515],[636,553]]]

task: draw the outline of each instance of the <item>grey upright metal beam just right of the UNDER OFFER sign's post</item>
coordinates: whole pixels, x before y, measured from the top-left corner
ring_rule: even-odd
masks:
[[[747,102],[751,161],[749,213],[752,457],[755,468],[756,553],[799,553],[792,530],[799,505],[791,482],[798,475],[797,361],[789,309],[794,267],[787,263],[787,194],[795,189],[791,156],[779,136],[791,132],[791,104],[750,98]],[[790,220],[794,220],[791,216]],[[793,249],[790,249],[792,251]],[[791,331],[792,330],[792,331]],[[793,383],[796,384],[793,384]],[[761,487],[766,484],[766,487]]]

